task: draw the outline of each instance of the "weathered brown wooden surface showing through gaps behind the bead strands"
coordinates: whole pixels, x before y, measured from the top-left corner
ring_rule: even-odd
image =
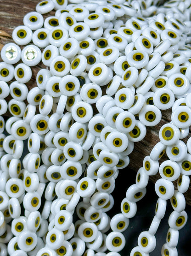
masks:
[[[5,31],[10,36],[12,34],[13,29],[18,25],[23,25],[23,17],[28,12],[32,12],[35,10],[36,4],[39,0],[0,0],[0,30]],[[48,15],[44,15],[44,17],[48,17],[54,15],[54,11],[49,13]],[[0,36],[0,44],[5,45],[6,43],[13,42],[10,37]],[[21,47],[22,48],[22,47]],[[0,59],[0,61],[2,61]],[[45,68],[45,66],[40,62],[38,66],[32,67],[33,76],[31,81],[27,84],[28,89],[36,86],[36,74],[40,68]],[[7,101],[10,98],[7,98]],[[10,113],[6,113],[6,116],[9,116]],[[162,120],[156,127],[147,127],[147,134],[144,140],[141,142],[135,143],[135,149],[130,157],[130,170],[137,171],[142,166],[142,161],[146,155],[149,155],[152,147],[159,141],[158,131],[160,127],[169,122],[171,116],[170,111],[162,112]],[[189,134],[190,137],[191,134]],[[184,141],[186,141],[185,139]],[[163,155],[162,159],[165,159],[165,155]],[[128,172],[130,171],[128,170]],[[159,174],[151,177],[152,182],[156,182],[159,179]],[[176,181],[174,182],[176,187]],[[191,205],[191,186],[188,192],[185,193],[186,202]]]

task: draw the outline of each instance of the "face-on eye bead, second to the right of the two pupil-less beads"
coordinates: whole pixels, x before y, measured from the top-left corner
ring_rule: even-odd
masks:
[[[70,70],[69,61],[63,56],[55,57],[50,64],[50,71],[54,76],[63,77]]]

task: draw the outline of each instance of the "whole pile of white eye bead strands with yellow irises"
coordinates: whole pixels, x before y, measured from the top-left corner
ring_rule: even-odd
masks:
[[[174,211],[161,255],[178,255],[191,175],[191,139],[181,140],[191,125],[190,15],[189,0],[45,0],[13,30],[0,62],[0,255],[119,256],[136,202],[158,171],[155,216],[130,256],[155,249],[168,199]],[[46,68],[28,91],[40,61]],[[146,126],[171,107],[172,121],[110,219],[119,170]]]

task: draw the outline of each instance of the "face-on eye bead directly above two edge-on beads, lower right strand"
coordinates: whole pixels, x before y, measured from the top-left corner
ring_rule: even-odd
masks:
[[[155,183],[155,191],[161,199],[168,200],[174,195],[174,185],[167,179],[158,179]]]

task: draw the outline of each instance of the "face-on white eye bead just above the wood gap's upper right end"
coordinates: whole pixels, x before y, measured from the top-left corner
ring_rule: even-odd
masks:
[[[168,88],[158,89],[153,95],[153,102],[159,109],[169,109],[174,104],[174,93]]]

